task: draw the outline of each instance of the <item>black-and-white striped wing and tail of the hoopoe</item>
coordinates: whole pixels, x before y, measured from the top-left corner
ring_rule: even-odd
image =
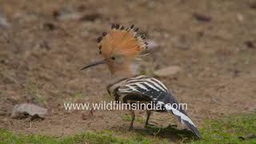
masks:
[[[138,94],[138,96],[150,99],[157,104],[161,104],[167,111],[174,114],[174,116],[178,118],[179,122],[186,125],[198,136],[198,138],[200,138],[198,129],[186,112],[178,107],[172,107],[174,104],[178,106],[178,101],[172,94],[170,94],[170,91],[167,90],[166,86],[162,84],[162,82],[158,81],[158,79],[144,75],[128,78],[122,86],[118,87],[116,93],[118,95]]]

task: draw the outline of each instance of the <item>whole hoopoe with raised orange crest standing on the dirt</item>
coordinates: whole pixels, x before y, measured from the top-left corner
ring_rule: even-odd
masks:
[[[163,110],[174,114],[179,122],[182,122],[198,138],[201,138],[194,122],[186,114],[185,110],[174,109],[170,105],[178,105],[178,101],[166,86],[156,78],[146,75],[134,75],[131,69],[133,59],[140,57],[148,48],[145,42],[145,35],[137,34],[138,28],[131,25],[126,28],[119,24],[113,24],[111,30],[97,39],[99,54],[104,58],[102,61],[93,62],[83,67],[85,70],[91,66],[106,64],[112,75],[113,81],[106,89],[108,93],[114,96],[115,101],[132,102],[154,102],[163,107]],[[167,105],[170,104],[170,105]],[[134,124],[134,110],[130,110],[131,122],[130,129]],[[149,125],[150,110],[146,110],[146,124]]]

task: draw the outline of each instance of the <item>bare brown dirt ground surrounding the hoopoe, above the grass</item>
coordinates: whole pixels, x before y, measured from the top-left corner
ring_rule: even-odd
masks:
[[[175,77],[158,78],[202,127],[206,118],[256,109],[256,3],[233,1],[26,1],[0,2],[0,129],[54,137],[85,130],[126,130],[127,111],[67,112],[63,102],[101,102],[106,98],[106,66],[79,71],[96,59],[95,38],[111,23],[134,23],[158,47],[140,63],[148,74],[180,66]],[[15,104],[32,102],[50,114],[43,121],[10,118]],[[88,112],[86,112],[88,113]],[[138,112],[145,118],[144,112]],[[177,123],[153,114],[151,123]],[[178,125],[180,126],[180,125]],[[135,128],[143,124],[135,122]]]

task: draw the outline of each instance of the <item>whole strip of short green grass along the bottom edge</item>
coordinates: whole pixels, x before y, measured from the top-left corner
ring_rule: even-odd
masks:
[[[218,120],[206,120],[199,130],[203,140],[193,141],[189,130],[150,127],[133,131],[102,132],[87,131],[66,138],[52,138],[35,134],[12,134],[0,130],[0,143],[169,143],[169,141],[190,143],[256,143],[256,113],[229,116]],[[125,138],[117,135],[126,135]]]

